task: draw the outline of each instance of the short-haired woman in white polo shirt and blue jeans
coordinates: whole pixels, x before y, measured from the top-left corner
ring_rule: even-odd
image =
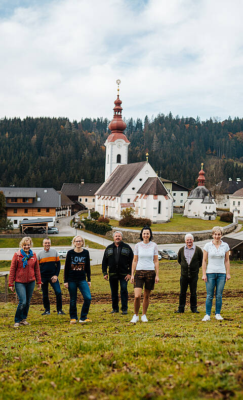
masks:
[[[222,294],[225,282],[230,279],[230,265],[229,245],[221,241],[222,233],[223,231],[220,226],[215,226],[212,230],[213,241],[207,243],[204,247],[204,258],[201,268],[203,269],[202,279],[206,282],[207,298],[206,315],[201,321],[210,321],[210,314],[214,298],[214,288],[216,288],[215,318],[219,320],[223,319],[220,315],[222,307]]]

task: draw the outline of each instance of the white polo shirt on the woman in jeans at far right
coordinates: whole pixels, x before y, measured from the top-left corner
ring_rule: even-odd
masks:
[[[206,243],[204,250],[208,253],[208,266],[206,273],[226,273],[224,264],[225,253],[229,250],[228,243],[221,241],[217,250],[212,242]]]

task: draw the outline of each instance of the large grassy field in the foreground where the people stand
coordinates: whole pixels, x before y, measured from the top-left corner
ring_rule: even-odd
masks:
[[[61,271],[62,273],[62,271]],[[66,315],[41,316],[41,293],[34,291],[31,325],[13,329],[16,304],[1,303],[0,398],[15,399],[242,399],[242,266],[232,263],[223,297],[223,321],[203,323],[205,284],[198,280],[198,309],[175,314],[180,268],[160,262],[160,281],[152,292],[148,323],[130,324],[129,314],[111,315],[109,284],[101,267],[92,267],[91,324],[69,325]],[[62,282],[62,278],[60,278]],[[14,300],[14,296],[13,296]],[[80,312],[82,299],[78,297]],[[215,305],[213,303],[213,312]],[[141,315],[141,312],[140,312]]]

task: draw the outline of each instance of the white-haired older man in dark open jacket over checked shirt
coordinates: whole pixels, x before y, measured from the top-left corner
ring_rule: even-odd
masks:
[[[191,312],[199,313],[197,310],[196,287],[198,281],[198,272],[201,264],[203,263],[203,251],[200,247],[195,246],[194,237],[191,233],[185,235],[186,245],[181,247],[177,260],[181,265],[180,277],[180,298],[179,308],[175,312],[184,312],[186,305],[186,292],[189,285],[190,288],[190,307]]]

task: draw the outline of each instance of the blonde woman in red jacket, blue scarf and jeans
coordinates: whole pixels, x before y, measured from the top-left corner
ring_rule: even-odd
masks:
[[[36,279],[38,290],[42,287],[41,273],[36,254],[32,252],[30,247],[33,246],[31,237],[25,236],[22,238],[17,253],[11,262],[9,272],[9,287],[14,293],[15,290],[19,298],[19,304],[14,317],[14,328],[21,325],[30,325],[27,321],[30,300],[34,290],[34,281]]]

